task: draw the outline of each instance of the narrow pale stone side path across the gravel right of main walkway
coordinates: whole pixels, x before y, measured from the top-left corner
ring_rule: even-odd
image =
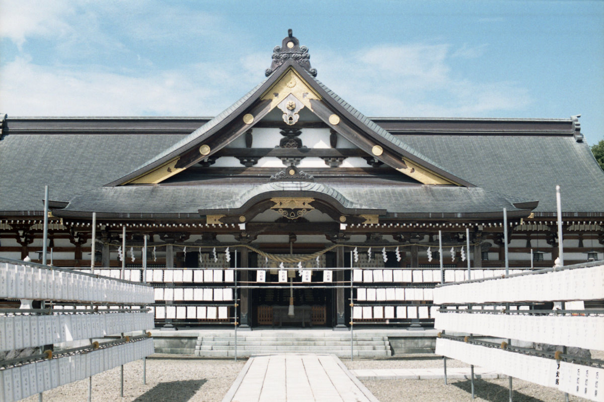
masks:
[[[428,369],[357,369],[350,370],[359,380],[435,380],[445,378],[442,368]],[[447,368],[449,380],[469,380],[471,372],[469,367]],[[507,375],[499,374],[481,367],[474,368],[474,378],[507,378]]]

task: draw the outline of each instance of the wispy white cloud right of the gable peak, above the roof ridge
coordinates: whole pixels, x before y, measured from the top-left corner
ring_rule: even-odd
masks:
[[[471,81],[455,70],[455,58],[478,57],[485,47],[383,45],[345,58],[318,51],[313,66],[321,81],[370,116],[480,117],[528,106],[528,91],[517,83]]]

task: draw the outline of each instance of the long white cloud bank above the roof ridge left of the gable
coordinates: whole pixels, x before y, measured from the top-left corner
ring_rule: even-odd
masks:
[[[191,66],[130,77],[49,68],[18,57],[2,70],[0,110],[12,116],[214,115],[236,100],[230,95],[237,88],[196,79],[204,74]]]

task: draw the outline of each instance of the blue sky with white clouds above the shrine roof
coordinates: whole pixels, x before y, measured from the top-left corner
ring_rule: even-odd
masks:
[[[365,115],[580,113],[604,138],[604,1],[0,0],[0,112],[213,116],[288,28]]]

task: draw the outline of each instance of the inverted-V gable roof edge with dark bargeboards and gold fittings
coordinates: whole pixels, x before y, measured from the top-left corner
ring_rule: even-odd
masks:
[[[427,184],[472,186],[362,115],[294,60],[281,63],[265,81],[224,112],[108,185],[159,183],[178,174],[245,133],[288,94],[294,94],[324,123],[369,156],[401,173]]]

